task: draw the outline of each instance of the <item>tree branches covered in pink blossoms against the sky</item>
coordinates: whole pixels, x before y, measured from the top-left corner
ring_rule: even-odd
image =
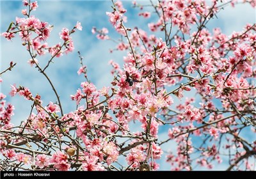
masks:
[[[112,1],[113,11],[106,15],[122,36],[116,50],[127,52],[124,66],[110,61],[113,81],[97,89],[79,53],[77,73],[85,81],[71,95],[77,105],[74,111],[63,111],[45,70],[55,58],[74,50],[71,36],[82,30],[81,23],[71,30],[63,28],[62,42],[49,46],[53,26],[33,16],[36,1],[23,3],[23,17],[17,17],[1,35],[6,40],[21,38],[29,64],[47,79],[56,103],[43,105],[40,94],[32,94],[22,84],[11,85],[10,96],[20,95],[32,105],[28,118],[14,126],[14,106],[0,93],[1,170],[147,171],[159,169],[159,159],[166,160],[172,170],[212,169],[223,157],[227,170],[255,169],[256,24],[229,36],[218,27],[207,29],[221,9],[236,8],[236,0],[150,0],[147,6],[152,12],[134,1],[134,8],[141,9],[138,15],[157,17],[148,24],[151,35],[127,27],[127,10],[121,1]],[[256,6],[255,0],[238,3]],[[100,40],[111,39],[106,28],[93,27],[92,33]],[[160,33],[162,38],[157,36]],[[44,54],[51,58],[41,66]],[[1,75],[8,75],[15,65],[11,62]],[[194,97],[186,98],[184,104],[173,102],[185,93],[195,95],[193,91],[199,103]],[[131,127],[134,121],[140,131]],[[164,139],[159,139],[159,130],[165,130]],[[254,137],[241,136],[244,130]],[[165,159],[163,144],[175,145]]]

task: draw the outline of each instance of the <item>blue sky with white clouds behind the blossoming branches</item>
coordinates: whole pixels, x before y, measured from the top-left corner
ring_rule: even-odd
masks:
[[[138,9],[131,8],[132,1],[124,1],[124,7],[127,11],[127,27],[133,28],[138,26],[143,30],[150,32],[147,29],[148,20],[138,17],[136,14],[140,12]],[[148,1],[141,1],[147,3]],[[77,76],[79,66],[79,58],[77,51],[81,52],[84,57],[84,63],[88,66],[88,77],[97,86],[98,89],[103,86],[109,86],[113,77],[111,77],[111,66],[108,61],[113,59],[122,64],[122,52],[109,53],[109,49],[115,48],[116,44],[111,41],[97,40],[95,35],[92,35],[92,27],[99,29],[107,27],[109,29],[109,36],[111,38],[120,37],[113,27],[108,22],[106,12],[111,12],[111,1],[38,1],[39,8],[33,12],[33,15],[40,20],[49,22],[54,25],[49,39],[49,45],[54,45],[61,42],[58,33],[62,27],[72,29],[76,22],[81,22],[83,31],[77,31],[72,35],[74,40],[75,50],[71,54],[64,55],[61,58],[54,59],[52,64],[46,71],[52,79],[54,86],[60,93],[61,103],[64,113],[68,113],[76,109],[76,103],[70,100],[70,95],[76,93],[80,83],[84,80],[83,76]],[[22,17],[20,13],[23,6],[22,1],[2,1],[1,0],[1,26],[0,31],[4,32],[8,28],[10,22],[15,20],[15,17]],[[236,8],[227,7],[218,14],[218,19],[209,22],[209,29],[212,27],[221,27],[223,33],[230,35],[232,31],[241,31],[246,23],[256,22],[256,13],[248,4],[239,4]],[[49,104],[50,101],[55,102],[56,98],[49,83],[44,76],[39,74],[35,68],[31,68],[27,61],[29,54],[21,45],[19,38],[14,38],[12,42],[7,42],[1,38],[1,71],[8,68],[10,61],[17,63],[12,72],[7,72],[2,76],[3,84],[1,84],[1,92],[8,94],[10,91],[10,84],[22,85],[31,89],[33,95],[39,93],[42,96],[44,105]],[[39,63],[44,64],[49,59],[49,56],[42,56],[38,58]],[[191,95],[191,94],[190,94]],[[177,98],[173,97],[175,102],[179,102]],[[15,105],[15,116],[13,116],[13,123],[19,124],[21,120],[25,120],[30,113],[31,102],[24,100],[19,96],[10,98],[8,102]],[[136,126],[135,126],[136,127]],[[161,133],[162,137],[166,134]],[[164,150],[174,150],[175,144],[168,143],[164,145]],[[164,161],[161,161],[161,163]],[[216,166],[214,169],[223,169],[223,166]],[[225,169],[226,167],[224,167]],[[170,169],[168,164],[161,165],[161,169]]]

